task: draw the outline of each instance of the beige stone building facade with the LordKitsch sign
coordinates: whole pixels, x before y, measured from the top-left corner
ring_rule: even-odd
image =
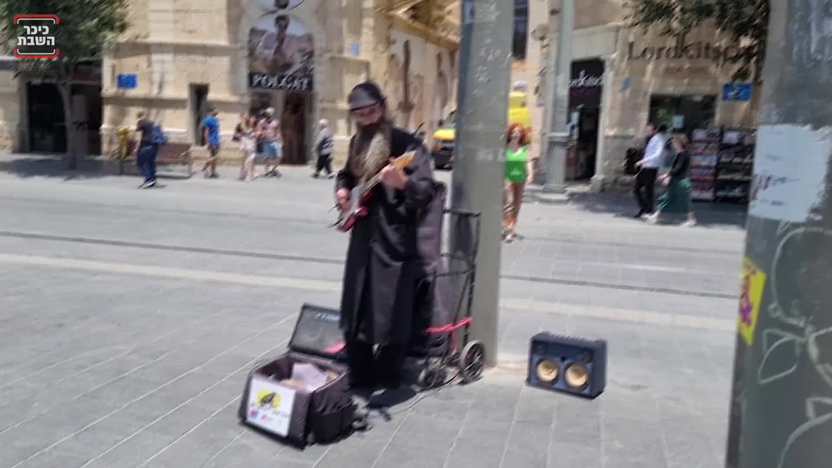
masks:
[[[530,99],[534,103],[532,127],[537,143],[534,149],[543,152],[545,138],[541,137],[548,108],[544,92],[548,79],[547,46],[557,37],[560,2],[528,0],[527,3],[526,58],[515,64],[513,79],[527,81],[530,92],[537,93],[537,97]],[[633,30],[626,26],[624,3],[625,0],[575,2],[570,101],[572,111],[581,111],[582,117],[587,107],[597,107],[597,112],[590,114],[595,141],[584,143],[594,153],[588,157],[594,160],[592,182],[597,188],[628,180],[622,175],[626,150],[643,146],[645,124],[656,120],[657,112],[661,114],[661,109],[656,110],[661,103],[681,102],[677,107],[695,107],[692,102],[707,103],[702,113],[710,113],[710,122],[705,117],[694,122],[691,115],[696,112],[677,109],[676,112],[686,113],[688,117],[677,131],[689,131],[697,123],[754,127],[756,122],[759,98],[756,87],[747,101],[729,101],[721,96],[723,86],[732,81],[737,68],[732,62],[738,52],[735,44],[718,37],[711,27],[702,27],[681,42],[662,37],[656,31]],[[538,31],[548,32],[542,41],[534,35],[540,27]],[[592,89],[582,89],[587,83],[582,78],[591,74],[584,71],[582,75],[584,67],[600,70],[597,77],[592,77],[598,78],[591,80]],[[588,104],[587,96],[591,97]],[[711,103],[712,109],[704,108],[711,107]],[[584,107],[578,108],[576,104]],[[674,122],[679,123],[679,119],[676,116]]]

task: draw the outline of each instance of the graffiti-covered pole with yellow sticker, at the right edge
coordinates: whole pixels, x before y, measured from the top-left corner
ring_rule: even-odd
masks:
[[[737,311],[729,468],[832,460],[832,23],[770,2]],[[824,32],[825,31],[825,32]]]

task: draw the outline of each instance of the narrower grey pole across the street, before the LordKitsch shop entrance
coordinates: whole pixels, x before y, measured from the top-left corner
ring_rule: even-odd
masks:
[[[575,27],[575,0],[561,0],[558,12],[557,44],[549,43],[549,115],[546,144],[546,184],[541,202],[565,202],[564,176],[567,160],[567,113],[569,77],[572,72],[572,34]]]

